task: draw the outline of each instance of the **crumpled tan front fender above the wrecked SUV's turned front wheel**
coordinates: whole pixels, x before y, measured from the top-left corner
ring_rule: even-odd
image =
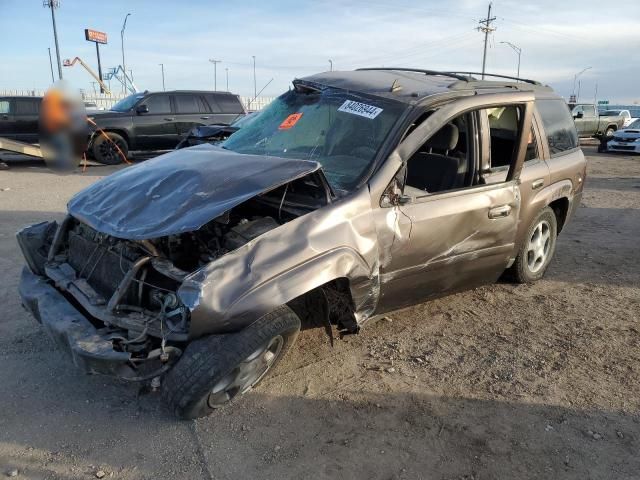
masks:
[[[286,223],[187,277],[178,290],[191,335],[234,331],[337,278],[358,322],[379,295],[378,240],[368,190]],[[338,246],[337,246],[338,245]]]

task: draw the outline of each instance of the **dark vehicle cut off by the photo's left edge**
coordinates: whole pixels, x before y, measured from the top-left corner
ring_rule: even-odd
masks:
[[[42,97],[0,97],[0,137],[38,142]]]

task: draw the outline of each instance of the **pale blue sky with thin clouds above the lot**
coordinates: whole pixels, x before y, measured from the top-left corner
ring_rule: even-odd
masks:
[[[495,0],[487,72],[516,75],[522,49],[523,78],[549,84],[568,97],[578,77],[580,100],[640,103],[640,1]],[[291,80],[329,70],[403,66],[480,71],[486,16],[484,0],[61,0],[56,10],[60,56],[80,57],[97,70],[95,44],[84,29],[106,32],[103,70],[122,63],[140,90],[217,86],[249,96],[286,91]],[[51,84],[47,48],[57,71],[51,12],[41,0],[0,0],[0,89],[46,89]],[[63,67],[72,85],[92,91],[80,66]],[[270,83],[269,83],[270,82]],[[119,87],[112,82],[112,88]],[[578,86],[576,85],[576,90]],[[596,95],[597,91],[597,95]]]

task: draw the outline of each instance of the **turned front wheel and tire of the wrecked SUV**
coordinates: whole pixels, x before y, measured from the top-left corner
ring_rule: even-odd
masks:
[[[191,342],[164,379],[163,400],[178,418],[210,415],[273,370],[299,331],[300,319],[283,305],[238,333]]]

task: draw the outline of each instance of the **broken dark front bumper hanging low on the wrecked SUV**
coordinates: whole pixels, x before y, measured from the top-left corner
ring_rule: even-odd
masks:
[[[100,332],[43,277],[24,268],[20,277],[22,304],[49,336],[86,373],[137,380],[131,355],[113,349]]]

